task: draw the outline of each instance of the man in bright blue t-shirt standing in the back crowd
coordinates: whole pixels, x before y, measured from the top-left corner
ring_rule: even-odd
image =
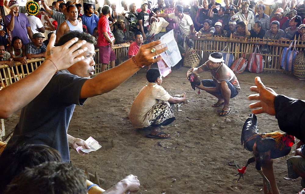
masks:
[[[94,14],[93,5],[84,5],[84,15],[81,16],[83,24],[87,26],[88,33],[93,35],[94,28],[97,27],[99,17]]]

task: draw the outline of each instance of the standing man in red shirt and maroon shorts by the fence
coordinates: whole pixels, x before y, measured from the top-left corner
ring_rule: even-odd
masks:
[[[114,36],[109,26],[108,18],[111,17],[110,7],[104,5],[102,8],[103,15],[99,19],[97,25],[97,32],[99,37],[97,39],[97,45],[99,47],[99,60],[102,63],[102,71],[106,70],[107,64],[110,61],[110,66],[115,66],[115,60],[117,59],[113,51]]]

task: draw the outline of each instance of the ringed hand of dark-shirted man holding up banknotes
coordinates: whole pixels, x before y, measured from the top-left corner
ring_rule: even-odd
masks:
[[[158,44],[160,44],[161,41],[154,41],[148,44],[143,44],[138,53],[135,55],[135,61],[143,66],[148,66],[151,65],[152,63],[156,63],[158,61],[160,61],[162,59],[162,57],[156,57],[158,55],[160,55],[161,53],[163,53],[164,51],[166,51],[168,48],[164,47],[162,49],[157,49],[156,52],[152,53],[151,50],[154,46],[157,46]],[[154,57],[156,57],[154,59]]]

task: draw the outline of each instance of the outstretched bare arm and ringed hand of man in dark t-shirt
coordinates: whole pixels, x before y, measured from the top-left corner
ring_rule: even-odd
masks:
[[[157,53],[160,54],[167,50],[167,47],[157,50],[154,53],[151,52],[151,47],[154,47],[160,43],[161,41],[154,41],[152,43],[142,45],[134,57],[135,61],[140,66],[148,66],[152,63],[160,61],[162,57],[157,57],[155,59],[154,57],[157,55]],[[113,90],[135,74],[135,72],[137,72],[139,69],[140,67],[138,67],[132,59],[129,59],[117,67],[99,73],[94,78],[85,81],[83,87],[81,88],[80,99],[102,95]]]

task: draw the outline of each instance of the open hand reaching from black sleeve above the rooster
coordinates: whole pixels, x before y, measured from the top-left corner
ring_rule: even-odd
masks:
[[[255,85],[251,86],[250,90],[258,94],[249,95],[249,100],[260,100],[260,102],[255,102],[249,105],[250,109],[260,108],[253,110],[252,113],[260,114],[267,113],[269,115],[275,115],[274,109],[274,99],[278,95],[271,88],[266,88],[263,82],[260,80],[260,77],[255,78]]]

